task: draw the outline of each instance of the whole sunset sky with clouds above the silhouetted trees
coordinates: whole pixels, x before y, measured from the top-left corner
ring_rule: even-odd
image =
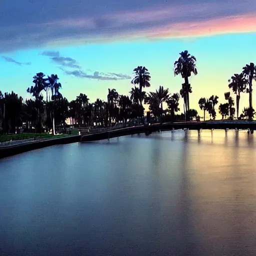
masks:
[[[179,92],[173,63],[183,50],[197,59],[189,100],[202,114],[200,97],[225,102],[231,75],[256,62],[256,1],[0,1],[0,90],[23,98],[37,72],[57,74],[68,100],[80,92],[106,100],[108,88],[128,94],[138,65],[151,73],[146,91]],[[240,109],[247,105],[242,94]]]

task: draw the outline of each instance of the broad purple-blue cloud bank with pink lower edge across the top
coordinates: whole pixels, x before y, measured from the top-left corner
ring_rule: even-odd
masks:
[[[255,13],[255,0],[94,0],[89,5],[80,0],[33,0],[15,6],[4,1],[0,51],[255,32]],[[71,59],[51,57],[72,65]]]

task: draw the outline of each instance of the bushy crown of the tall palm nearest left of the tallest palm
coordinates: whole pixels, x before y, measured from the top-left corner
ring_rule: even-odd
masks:
[[[134,78],[131,80],[132,84],[138,84],[139,85],[139,91],[142,91],[142,88],[144,87],[150,87],[150,73],[147,68],[144,66],[137,66],[133,69]]]

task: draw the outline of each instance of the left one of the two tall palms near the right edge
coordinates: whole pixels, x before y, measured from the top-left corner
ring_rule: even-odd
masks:
[[[244,74],[234,74],[228,80],[228,87],[232,88],[234,94],[236,94],[236,117],[239,118],[239,100],[240,100],[240,92],[244,92],[246,87],[246,79],[244,78]]]

